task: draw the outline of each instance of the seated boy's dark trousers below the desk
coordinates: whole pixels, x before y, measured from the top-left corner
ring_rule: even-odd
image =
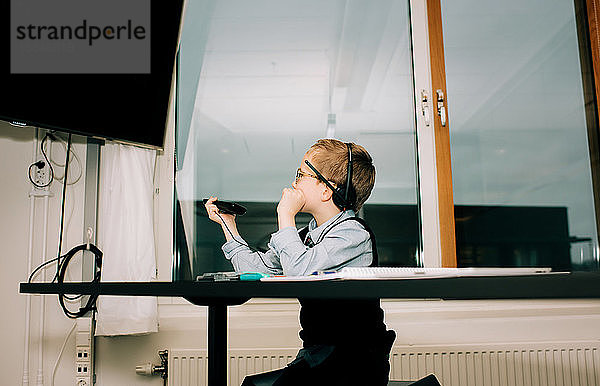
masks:
[[[383,347],[336,347],[315,367],[294,361],[283,369],[247,376],[242,386],[386,386],[395,334],[390,338]]]

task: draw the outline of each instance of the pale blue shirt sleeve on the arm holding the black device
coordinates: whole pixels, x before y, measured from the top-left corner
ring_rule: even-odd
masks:
[[[252,251],[241,237],[227,241],[221,249],[236,272],[262,272],[271,275],[283,272],[281,263],[273,251]]]

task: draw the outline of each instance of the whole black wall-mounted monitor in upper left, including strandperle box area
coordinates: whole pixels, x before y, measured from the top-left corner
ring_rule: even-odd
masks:
[[[162,148],[183,0],[45,4],[1,6],[0,120]]]

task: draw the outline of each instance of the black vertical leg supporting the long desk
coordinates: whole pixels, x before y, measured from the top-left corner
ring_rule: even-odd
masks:
[[[227,306],[208,306],[208,384],[227,385]]]

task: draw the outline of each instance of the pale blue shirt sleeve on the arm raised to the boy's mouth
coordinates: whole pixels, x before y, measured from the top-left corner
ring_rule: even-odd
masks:
[[[355,221],[335,226],[313,247],[302,243],[293,227],[271,235],[269,247],[288,276],[310,275],[314,271],[345,266],[368,266],[373,260],[369,233]]]

